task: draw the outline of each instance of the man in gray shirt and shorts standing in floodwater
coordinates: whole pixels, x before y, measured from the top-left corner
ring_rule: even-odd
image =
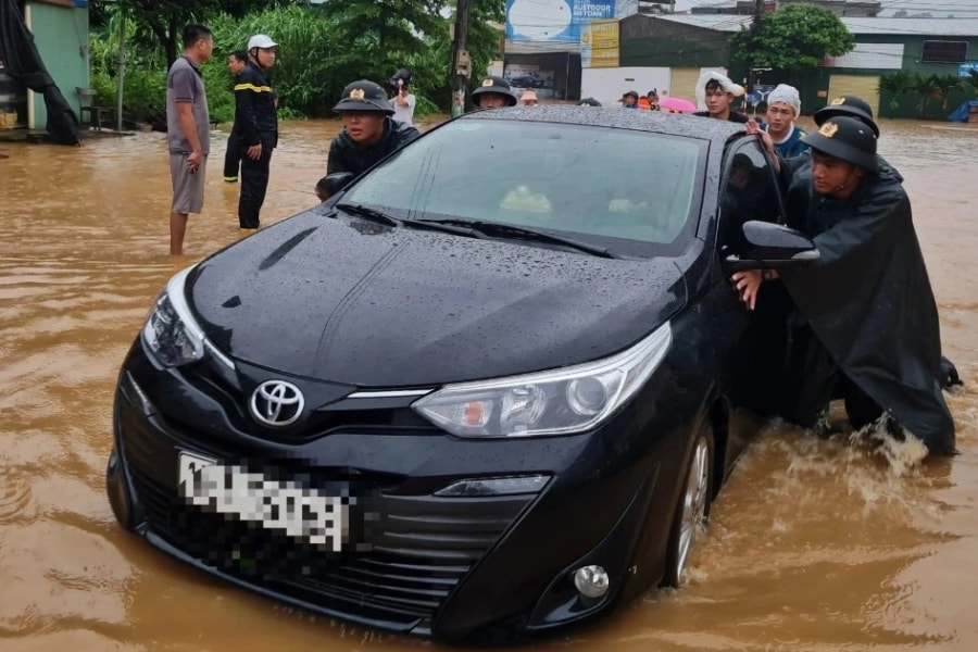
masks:
[[[211,120],[200,65],[214,51],[214,37],[203,25],[184,27],[184,53],[166,76],[166,133],[170,141],[170,253],[184,253],[187,217],[203,209],[203,186],[211,152]]]

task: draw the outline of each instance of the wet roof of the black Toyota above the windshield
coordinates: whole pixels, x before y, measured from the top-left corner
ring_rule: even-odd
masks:
[[[698,115],[576,104],[490,109],[466,113],[456,120],[515,120],[675,134],[716,142],[720,151],[731,136],[744,131],[743,124]]]

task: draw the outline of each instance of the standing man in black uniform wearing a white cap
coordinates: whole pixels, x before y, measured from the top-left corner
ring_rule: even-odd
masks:
[[[266,71],[275,65],[277,43],[264,34],[248,40],[248,65],[235,85],[235,127],[240,131],[241,197],[238,222],[241,228],[261,226],[262,204],[268,188],[272,150],[278,145],[275,96]]]

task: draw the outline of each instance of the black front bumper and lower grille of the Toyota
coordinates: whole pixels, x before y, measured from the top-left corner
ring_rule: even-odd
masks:
[[[184,410],[176,417],[164,413],[154,398],[168,397],[164,403],[178,396]],[[222,415],[205,391],[176,372],[154,368],[137,341],[120,376],[108,474],[120,522],[235,584],[404,634],[465,639],[529,632],[609,611],[630,579],[631,548],[657,479],[657,465],[610,450],[605,431],[475,441],[437,430],[339,428],[284,443],[241,431]],[[188,425],[204,422],[206,427]],[[216,439],[215,430],[226,436]],[[187,506],[177,496],[180,451],[241,464],[275,461],[297,475],[351,480],[361,498],[351,510],[358,515],[351,541],[360,550],[324,554]],[[435,496],[461,479],[522,475],[549,480],[535,493]],[[673,504],[670,497],[661,500]],[[587,564],[604,566],[612,577],[613,590],[601,599],[573,589],[570,573]]]

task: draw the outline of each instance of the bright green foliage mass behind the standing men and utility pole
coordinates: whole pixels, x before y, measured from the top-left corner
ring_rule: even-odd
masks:
[[[248,38],[259,33],[279,43],[271,71],[272,84],[281,97],[279,115],[334,115],[331,109],[348,83],[367,78],[384,84],[399,67],[408,67],[413,75],[419,116],[447,108],[451,101],[449,26],[454,18],[436,11],[443,1],[450,0],[432,0],[424,7],[409,0],[331,0],[324,5],[292,2],[243,16],[199,15],[193,20],[214,32],[214,59],[203,65],[211,115],[221,121],[234,116],[226,55],[243,49]],[[480,76],[499,55],[501,33],[488,23],[503,20],[505,0],[471,2],[468,49],[474,74]],[[118,58],[115,3],[103,5],[92,23],[97,25],[91,34],[92,88],[100,104],[114,105]],[[183,24],[177,32],[181,28]],[[152,121],[163,111],[170,60],[163,45],[147,39],[148,34],[145,25],[126,21],[124,112]]]

